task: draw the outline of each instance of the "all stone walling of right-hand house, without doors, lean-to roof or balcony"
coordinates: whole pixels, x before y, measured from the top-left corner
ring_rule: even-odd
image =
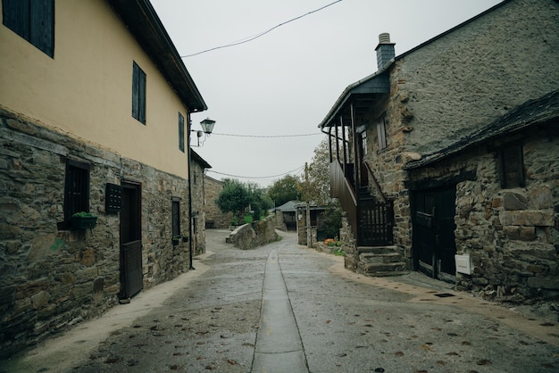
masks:
[[[382,193],[394,201],[394,244],[408,269],[414,267],[417,250],[414,189],[430,181],[450,185],[454,178],[456,249],[470,253],[474,266],[471,278],[457,275],[460,286],[474,291],[495,286],[496,294],[519,302],[559,294],[556,132],[532,136],[523,145],[525,188],[500,187],[496,154],[487,148],[463,154],[445,167],[405,170],[408,162],[438,153],[527,100],[556,90],[558,24],[555,1],[504,2],[396,56],[382,72],[389,76],[389,94],[378,95],[355,123],[368,123],[363,158]],[[379,146],[379,118],[385,120],[385,148]],[[370,189],[376,190],[371,179]],[[349,233],[342,236],[348,240],[346,266],[360,270],[359,248]]]

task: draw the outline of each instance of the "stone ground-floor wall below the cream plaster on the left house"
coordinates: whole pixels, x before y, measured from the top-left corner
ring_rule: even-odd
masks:
[[[171,197],[188,227],[188,180],[98,145],[0,112],[0,354],[5,357],[118,303],[120,218],[105,186],[141,185],[144,287],[188,270],[188,244],[171,244]],[[92,230],[58,230],[67,159],[87,162]]]

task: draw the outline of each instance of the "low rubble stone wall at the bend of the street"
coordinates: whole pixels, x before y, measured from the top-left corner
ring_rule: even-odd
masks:
[[[241,250],[266,245],[278,240],[274,225],[272,218],[242,225],[229,234],[227,242]]]

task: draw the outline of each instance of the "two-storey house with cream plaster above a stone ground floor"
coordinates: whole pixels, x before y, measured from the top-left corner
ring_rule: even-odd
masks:
[[[148,0],[2,7],[6,357],[188,270],[172,238],[188,234],[190,114],[206,105]]]

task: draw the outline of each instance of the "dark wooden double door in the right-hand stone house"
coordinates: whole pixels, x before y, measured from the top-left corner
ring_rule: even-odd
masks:
[[[455,187],[415,193],[413,257],[432,278],[455,277]]]

